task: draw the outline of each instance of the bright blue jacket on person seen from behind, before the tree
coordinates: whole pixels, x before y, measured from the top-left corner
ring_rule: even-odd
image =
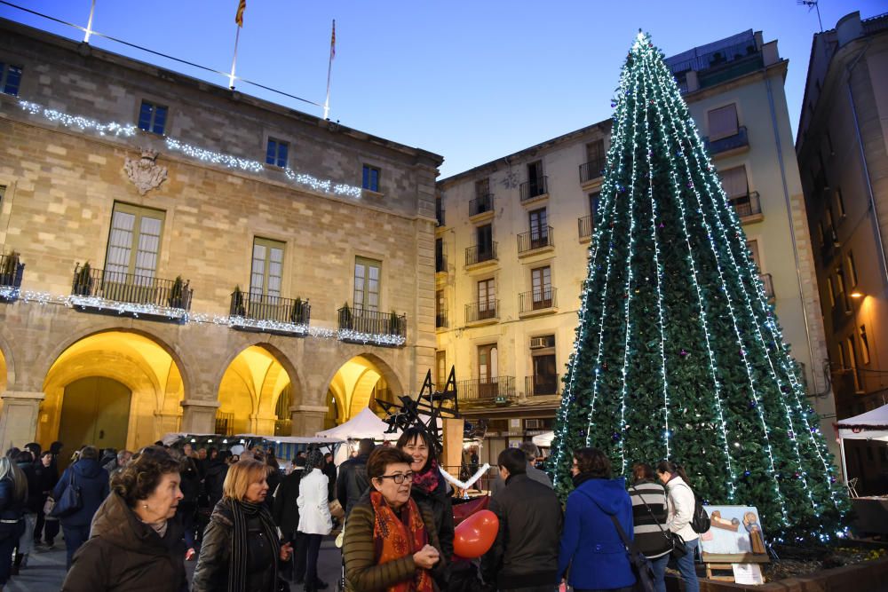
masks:
[[[635,583],[626,548],[614,528],[617,517],[632,538],[632,502],[624,478],[587,479],[567,496],[558,572],[570,564],[574,588],[623,588]]]

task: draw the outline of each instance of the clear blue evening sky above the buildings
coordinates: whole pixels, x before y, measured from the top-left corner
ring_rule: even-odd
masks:
[[[86,25],[91,0],[12,0]],[[231,67],[237,0],[97,0],[93,28],[221,71]],[[824,28],[876,0],[821,0]],[[62,36],[83,33],[0,4],[0,17]],[[442,177],[612,114],[610,99],[638,28],[667,56],[752,28],[789,59],[793,131],[805,91],[815,12],[796,0],[742,2],[424,2],[247,0],[237,74],[323,103],[337,20],[330,119],[441,154]],[[93,45],[212,83],[227,79],[109,42]],[[239,91],[321,116],[319,107],[247,84]],[[27,99],[27,98],[26,98]],[[182,138],[186,140],[187,138]]]

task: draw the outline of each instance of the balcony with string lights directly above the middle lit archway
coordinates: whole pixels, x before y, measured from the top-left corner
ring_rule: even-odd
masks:
[[[302,298],[292,300],[281,296],[243,293],[236,289],[231,295],[228,315],[228,326],[231,328],[305,336],[312,316],[312,305]]]

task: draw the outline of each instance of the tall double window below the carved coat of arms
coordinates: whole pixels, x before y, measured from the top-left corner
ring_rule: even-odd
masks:
[[[127,283],[127,274],[142,280],[155,277],[163,219],[163,211],[157,209],[114,204],[105,260],[105,272],[115,276],[110,281]]]

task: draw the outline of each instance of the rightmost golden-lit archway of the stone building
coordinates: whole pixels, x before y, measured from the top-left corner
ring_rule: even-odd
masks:
[[[326,427],[347,422],[364,407],[385,416],[378,400],[394,401],[404,394],[400,381],[382,359],[362,354],[348,360],[330,380],[327,391]]]

